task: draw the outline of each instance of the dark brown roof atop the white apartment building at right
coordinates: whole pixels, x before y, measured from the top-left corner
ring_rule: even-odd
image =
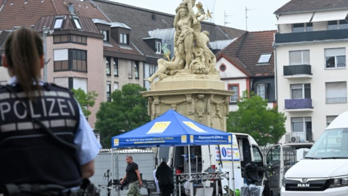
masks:
[[[347,0],[291,0],[274,13],[306,12],[348,8]]]

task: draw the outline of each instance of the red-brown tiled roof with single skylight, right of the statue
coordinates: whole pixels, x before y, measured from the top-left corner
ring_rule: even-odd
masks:
[[[236,58],[252,73],[255,77],[274,76],[274,50],[272,47],[273,36],[277,31],[257,31],[246,32],[236,41],[225,47],[216,56],[224,54],[230,57],[232,62]],[[271,53],[269,63],[257,64],[260,55]],[[235,62],[240,69],[245,69],[240,63]]]

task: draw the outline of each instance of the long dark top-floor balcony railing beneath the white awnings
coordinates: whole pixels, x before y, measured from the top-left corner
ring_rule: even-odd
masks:
[[[308,31],[296,33],[276,33],[276,44],[293,42],[311,42],[322,40],[347,39],[348,29],[326,30],[326,31]]]

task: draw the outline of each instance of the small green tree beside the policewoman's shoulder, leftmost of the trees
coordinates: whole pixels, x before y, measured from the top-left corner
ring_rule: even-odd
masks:
[[[84,112],[84,115],[87,117],[90,114],[92,114],[92,112],[88,110],[88,107],[94,106],[98,94],[95,93],[95,91],[88,91],[87,93],[85,93],[85,91],[81,88],[71,89],[71,91],[74,93],[75,98],[79,102],[82,112]]]

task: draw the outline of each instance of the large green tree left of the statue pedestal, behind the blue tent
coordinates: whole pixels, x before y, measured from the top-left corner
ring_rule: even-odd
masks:
[[[111,137],[150,121],[148,99],[140,94],[142,91],[146,89],[137,84],[125,84],[122,90],[115,90],[111,94],[111,102],[100,104],[95,130],[100,133],[103,148],[111,147]]]

